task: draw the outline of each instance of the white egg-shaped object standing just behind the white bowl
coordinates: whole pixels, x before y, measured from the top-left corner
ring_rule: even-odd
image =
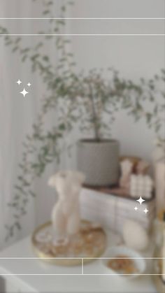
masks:
[[[145,250],[148,248],[148,234],[138,222],[127,220],[123,226],[122,236],[129,248],[134,250]]]

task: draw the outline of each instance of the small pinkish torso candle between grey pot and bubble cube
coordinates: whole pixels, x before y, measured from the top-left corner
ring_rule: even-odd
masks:
[[[124,159],[120,163],[122,175],[120,177],[120,187],[129,190],[129,183],[131,178],[133,163],[129,159]]]

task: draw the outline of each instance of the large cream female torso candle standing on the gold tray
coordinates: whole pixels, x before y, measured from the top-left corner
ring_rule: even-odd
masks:
[[[59,199],[52,210],[54,243],[66,244],[80,229],[79,193],[85,176],[77,171],[59,171],[48,181]]]

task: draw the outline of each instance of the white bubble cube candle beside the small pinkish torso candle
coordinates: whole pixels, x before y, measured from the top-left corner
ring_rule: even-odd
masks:
[[[153,190],[153,180],[148,175],[131,175],[129,193],[132,197],[143,196],[150,199]]]

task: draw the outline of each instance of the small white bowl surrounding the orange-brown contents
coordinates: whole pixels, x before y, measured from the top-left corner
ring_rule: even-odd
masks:
[[[115,258],[117,255],[124,255],[128,258],[131,258],[134,260],[134,264],[138,270],[138,273],[133,274],[122,274],[118,273],[117,271],[114,271],[113,269],[108,268],[107,262],[110,258]],[[115,275],[122,278],[136,278],[139,275],[142,275],[145,271],[145,259],[135,250],[132,250],[131,248],[127,248],[124,245],[120,246],[113,246],[111,248],[108,248],[106,250],[105,254],[103,255],[103,258],[101,259],[101,264],[103,266],[103,271],[105,274]]]

